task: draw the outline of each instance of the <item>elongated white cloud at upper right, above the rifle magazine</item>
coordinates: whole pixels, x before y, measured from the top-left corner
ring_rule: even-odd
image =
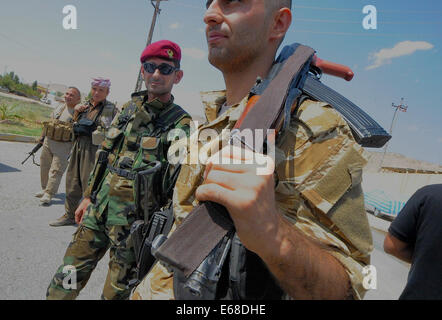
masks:
[[[374,62],[365,69],[376,69],[380,66],[391,63],[395,58],[412,55],[418,50],[430,50],[433,48],[434,45],[425,41],[402,41],[397,43],[393,48],[384,48],[379,52],[372,54],[370,60],[374,60]]]

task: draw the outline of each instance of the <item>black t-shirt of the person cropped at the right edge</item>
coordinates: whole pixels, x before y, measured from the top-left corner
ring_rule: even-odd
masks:
[[[416,191],[388,231],[414,245],[408,282],[399,299],[442,299],[442,184]]]

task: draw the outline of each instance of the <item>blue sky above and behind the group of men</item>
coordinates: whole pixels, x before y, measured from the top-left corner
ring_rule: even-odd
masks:
[[[112,80],[110,99],[120,105],[135,86],[139,55],[151,24],[147,0],[0,0],[0,72],[25,81],[75,85],[87,92],[96,76]],[[77,8],[78,30],[64,30],[63,7]],[[365,30],[362,8],[377,9],[376,30]],[[177,103],[202,114],[198,92],[223,88],[207,62],[205,1],[169,0],[154,41],[183,49],[183,81]],[[327,60],[350,66],[351,82],[324,76],[326,84],[374,117],[386,130],[403,97],[390,152],[442,164],[442,1],[294,0],[294,22],[285,43],[313,47]]]

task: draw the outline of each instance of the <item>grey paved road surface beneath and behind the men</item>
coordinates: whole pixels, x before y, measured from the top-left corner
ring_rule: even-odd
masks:
[[[64,213],[64,178],[55,202],[39,206],[33,196],[40,188],[39,168],[32,159],[20,164],[32,148],[32,144],[0,141],[0,300],[44,299],[75,231],[48,225]],[[383,252],[383,239],[384,233],[373,229],[371,264],[377,270],[377,289],[367,293],[368,300],[397,299],[407,279],[408,265]],[[100,298],[108,262],[106,255],[79,299]]]

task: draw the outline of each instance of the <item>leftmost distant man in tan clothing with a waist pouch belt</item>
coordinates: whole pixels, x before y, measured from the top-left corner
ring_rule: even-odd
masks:
[[[49,205],[58,192],[61,178],[68,166],[69,152],[72,149],[72,122],[74,108],[81,101],[81,93],[69,87],[64,95],[64,103],[54,110],[51,120],[44,123],[40,142],[43,148],[40,156],[41,191],[35,196],[43,205]]]

